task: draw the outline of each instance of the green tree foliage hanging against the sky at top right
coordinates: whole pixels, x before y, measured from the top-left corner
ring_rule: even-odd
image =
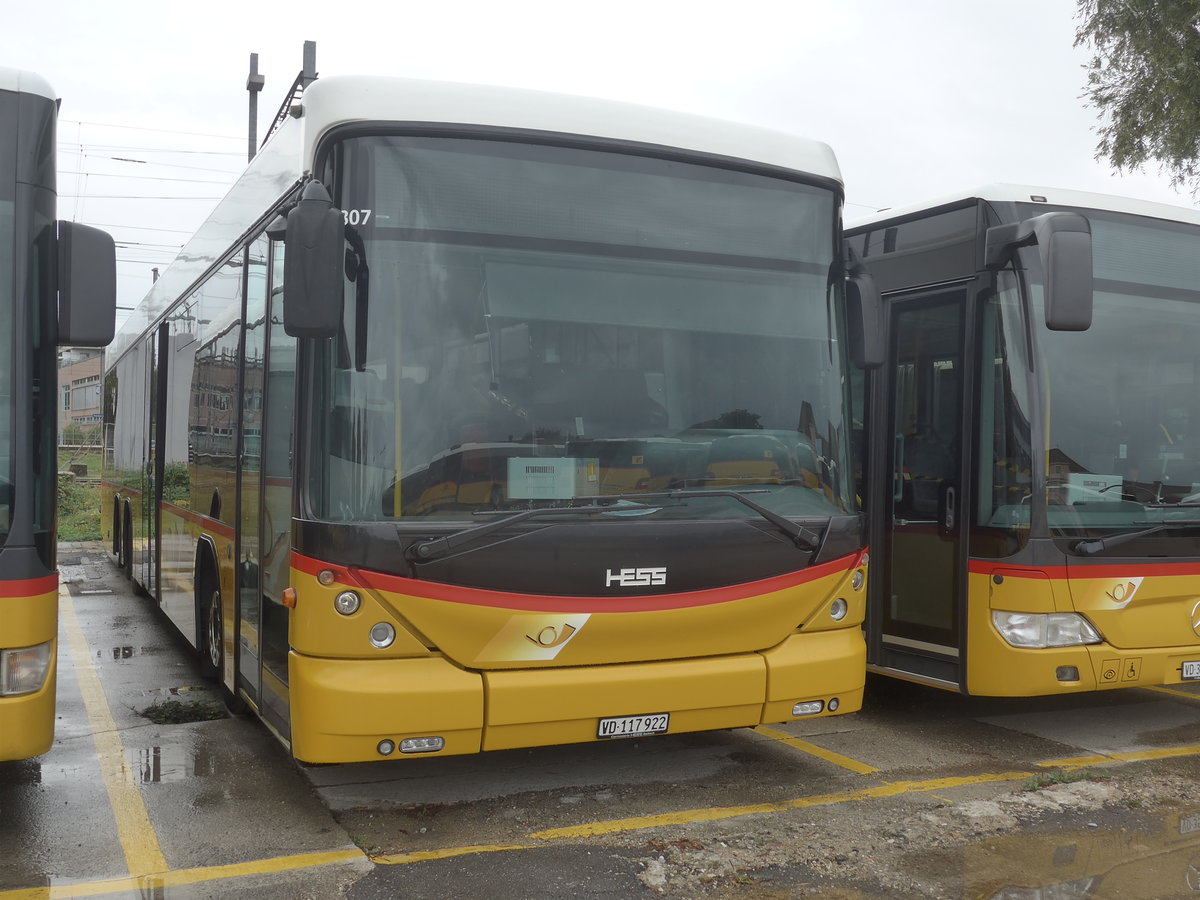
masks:
[[[1126,170],[1157,161],[1172,185],[1200,190],[1200,0],[1078,4],[1097,157]]]

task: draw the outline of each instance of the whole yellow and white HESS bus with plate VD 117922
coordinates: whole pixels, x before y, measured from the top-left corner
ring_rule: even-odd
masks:
[[[106,540],[227,696],[307,762],[858,709],[829,149],[382,78],[282,119],[104,383]]]

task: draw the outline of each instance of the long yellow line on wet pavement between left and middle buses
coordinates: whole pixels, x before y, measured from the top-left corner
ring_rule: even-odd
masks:
[[[84,708],[88,710],[91,739],[100,757],[101,778],[116,818],[116,836],[121,842],[121,850],[125,851],[125,865],[132,876],[166,871],[167,860],[158,846],[158,835],[150,824],[150,815],[146,812],[142,793],[128,778],[125,745],[108,709],[100,676],[92,665],[88,638],[79,628],[74,605],[65,589],[59,592],[59,613],[71,647],[71,665],[79,682]]]

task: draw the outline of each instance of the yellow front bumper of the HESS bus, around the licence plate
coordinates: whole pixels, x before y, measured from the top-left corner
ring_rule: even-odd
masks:
[[[600,740],[600,720],[620,716],[668,714],[666,733],[679,733],[788,721],[817,701],[803,718],[853,713],[865,662],[858,628],[791,635],[762,653],[575,668],[293,652],[292,752],[311,763],[420,758]]]

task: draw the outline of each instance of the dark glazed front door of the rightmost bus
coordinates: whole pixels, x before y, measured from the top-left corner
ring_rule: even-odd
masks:
[[[872,442],[886,457],[871,497],[884,553],[872,577],[872,662],[943,686],[960,682],[965,301],[965,288],[888,301],[886,430]]]

